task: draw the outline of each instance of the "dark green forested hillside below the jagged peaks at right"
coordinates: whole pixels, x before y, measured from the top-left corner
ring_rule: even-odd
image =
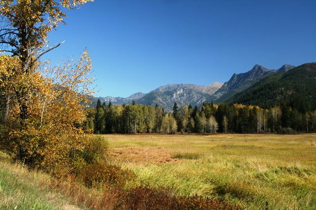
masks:
[[[303,64],[288,72],[274,74],[228,100],[265,109],[286,106],[307,112],[316,109],[316,63]]]

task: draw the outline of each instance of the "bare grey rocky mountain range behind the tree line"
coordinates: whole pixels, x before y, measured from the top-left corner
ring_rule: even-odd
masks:
[[[231,79],[227,82],[215,82],[211,85],[194,85],[194,84],[168,84],[160,86],[149,93],[134,93],[129,97],[94,97],[97,101],[98,98],[102,102],[113,104],[142,103],[155,106],[158,104],[166,111],[171,111],[174,102],[181,105],[202,106],[203,102],[214,101],[216,103],[229,101],[233,96],[242,91],[250,88],[261,79],[274,74],[282,74],[293,69],[292,65],[283,65],[281,68],[267,69],[260,65],[255,65],[251,70],[246,73],[233,74]]]

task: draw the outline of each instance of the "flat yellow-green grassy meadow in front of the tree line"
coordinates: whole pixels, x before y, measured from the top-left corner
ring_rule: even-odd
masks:
[[[315,209],[316,134],[102,135],[137,180],[244,209]],[[127,186],[128,187],[128,186]]]

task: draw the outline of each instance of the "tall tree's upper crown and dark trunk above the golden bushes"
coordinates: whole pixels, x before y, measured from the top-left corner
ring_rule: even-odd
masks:
[[[48,46],[48,34],[60,23],[65,23],[68,9],[79,8],[93,0],[1,0],[0,1],[0,49],[19,59],[21,77],[29,77],[39,66],[39,59],[60,46]],[[23,88],[15,89],[20,109],[21,125],[27,126],[29,118],[30,85],[26,81]],[[7,95],[10,101],[12,94]]]

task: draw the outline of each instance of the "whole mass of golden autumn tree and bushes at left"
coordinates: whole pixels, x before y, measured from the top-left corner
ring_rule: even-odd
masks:
[[[0,1],[0,97],[3,99],[2,149],[30,167],[71,170],[84,149],[81,125],[93,79],[86,50],[78,61],[59,67],[39,58],[49,47],[48,33],[65,23],[63,8],[75,9],[86,0]]]

